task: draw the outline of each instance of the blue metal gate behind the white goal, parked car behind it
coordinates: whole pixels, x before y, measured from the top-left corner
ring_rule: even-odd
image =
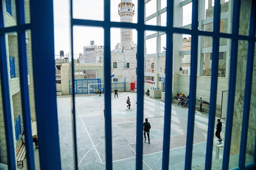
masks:
[[[74,80],[74,90],[75,94],[82,94],[82,93],[88,93],[90,90],[90,93],[96,92],[97,88],[99,88],[100,85],[90,85],[94,83],[101,83],[101,79],[76,79]],[[70,84],[70,83],[69,83]],[[101,88],[102,92],[104,92],[104,88]],[[69,94],[72,94],[72,88],[69,86]]]

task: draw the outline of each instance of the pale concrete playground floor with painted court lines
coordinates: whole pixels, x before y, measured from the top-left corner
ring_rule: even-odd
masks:
[[[81,170],[101,170],[106,166],[104,95],[104,93],[102,96],[96,94],[75,95],[78,169]],[[113,169],[135,169],[136,95],[137,93],[134,92],[118,92],[118,98],[114,98],[114,93],[111,96]],[[131,109],[127,108],[127,96],[130,97]],[[74,169],[71,95],[57,96],[57,105],[61,168]],[[143,142],[143,138],[141,139],[143,142],[143,169],[145,170],[162,169],[164,108],[165,103],[160,99],[144,96],[144,119],[148,118],[148,122],[151,124],[150,144],[148,141]],[[173,103],[171,108],[169,169],[184,169],[188,108],[181,108],[176,103]],[[192,166],[205,163],[207,127],[208,117],[196,111]],[[225,122],[222,123],[222,132],[225,132]],[[224,137],[223,133],[221,137]],[[225,138],[222,143],[224,140]],[[213,161],[215,161],[216,144],[219,142],[214,135]],[[221,150],[219,158],[222,158],[222,154]]]

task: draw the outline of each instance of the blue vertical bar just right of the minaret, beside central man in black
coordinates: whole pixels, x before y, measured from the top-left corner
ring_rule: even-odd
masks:
[[[138,1],[138,57],[137,57],[137,126],[136,170],[142,169],[143,154],[143,98],[144,98],[144,1]]]

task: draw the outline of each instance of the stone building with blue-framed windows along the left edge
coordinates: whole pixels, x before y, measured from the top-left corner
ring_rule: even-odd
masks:
[[[11,27],[17,25],[16,17],[16,7],[15,1],[1,0],[3,5],[3,16],[4,16],[4,26]],[[25,1],[25,20],[26,23],[30,23],[30,13],[29,13],[29,1]],[[10,92],[10,106],[11,106],[11,116],[12,116],[12,130],[13,130],[13,140],[14,146],[16,146],[15,137],[15,120],[20,116],[21,132],[23,131],[23,115],[22,115],[22,103],[21,103],[21,91],[20,91],[20,71],[19,71],[19,54],[18,54],[18,36],[17,33],[5,34],[5,46],[6,46],[6,60],[8,68],[8,81],[9,81],[9,92]],[[30,102],[30,116],[31,121],[36,121],[35,114],[35,101],[34,101],[34,78],[33,78],[33,68],[32,68],[32,51],[31,51],[31,31],[26,31],[26,52],[27,52],[27,67],[28,67],[28,88],[29,88],[29,102]],[[10,64],[11,61],[11,64]],[[14,67],[14,66],[15,67]],[[12,73],[10,73],[10,70]],[[12,74],[12,75],[11,75]],[[0,82],[1,84],[1,82]],[[4,124],[4,114],[2,105],[2,91],[0,91],[0,153],[1,153],[1,163],[7,163],[7,146],[6,146],[6,136],[5,136],[5,124]]]

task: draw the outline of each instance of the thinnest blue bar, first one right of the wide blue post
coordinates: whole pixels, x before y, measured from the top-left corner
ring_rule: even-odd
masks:
[[[74,45],[73,45],[73,25],[72,25],[72,18],[73,18],[73,0],[70,0],[70,16],[71,16],[71,28],[70,28],[70,34],[71,34],[71,74],[72,74],[72,123],[73,123],[73,148],[74,148],[74,156],[75,156],[75,169],[78,170],[78,156],[77,156],[77,143],[76,143],[76,118],[75,118],[75,93],[77,93],[77,81],[76,81],[76,92],[75,92],[75,87],[74,87],[74,80],[75,80],[75,75],[74,75]],[[87,82],[88,86],[88,82]]]

